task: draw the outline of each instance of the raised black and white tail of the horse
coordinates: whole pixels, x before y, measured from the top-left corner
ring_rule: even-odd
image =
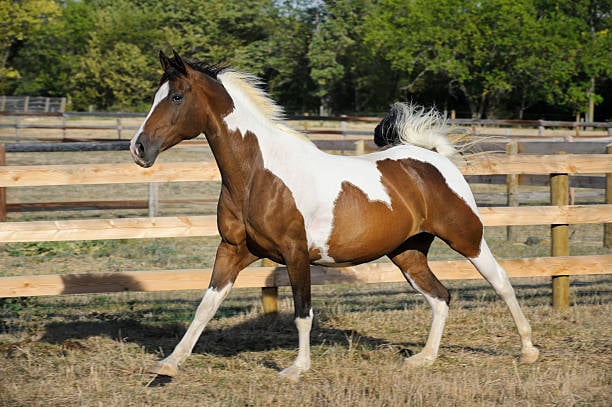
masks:
[[[394,103],[374,129],[374,143],[379,147],[413,144],[451,157],[457,150],[448,137],[449,130],[446,119],[435,109]]]

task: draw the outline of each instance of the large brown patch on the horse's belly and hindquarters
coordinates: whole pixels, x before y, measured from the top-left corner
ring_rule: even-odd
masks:
[[[467,257],[480,252],[482,223],[431,164],[414,160],[381,160],[381,182],[391,208],[371,201],[344,182],[334,207],[329,255],[338,263],[358,264],[386,255],[410,237],[427,232]]]

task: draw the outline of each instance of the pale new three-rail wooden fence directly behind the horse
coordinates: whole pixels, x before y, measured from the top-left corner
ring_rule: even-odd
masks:
[[[569,174],[612,174],[612,159],[608,154],[483,156],[461,169],[465,175],[529,173],[566,178]],[[158,163],[147,169],[134,164],[0,166],[0,187],[216,180],[219,180],[219,172],[212,162]],[[569,184],[561,182],[560,185],[565,189],[556,193],[567,196]],[[486,226],[550,224],[555,227],[577,223],[611,223],[610,190],[607,196],[606,204],[485,207],[481,208],[482,218]],[[0,222],[0,243],[215,235],[215,216]],[[567,240],[568,236],[560,236],[561,241],[553,241],[553,245],[567,246],[567,241],[562,239]],[[555,252],[553,247],[553,253],[559,251]],[[562,284],[557,286],[562,288],[563,298],[558,299],[561,303],[556,305],[563,308],[569,304],[565,276],[608,274],[612,270],[612,255],[507,259],[502,260],[501,264],[511,277],[561,278]],[[431,267],[440,279],[479,278],[467,261],[434,261]],[[1,277],[0,297],[201,289],[208,285],[210,273],[210,269],[197,269]],[[313,284],[402,280],[401,273],[385,263],[339,269],[312,268]],[[288,284],[284,267],[250,267],[240,274],[235,287],[261,287],[265,293],[269,293],[268,288],[274,292],[275,287]],[[266,304],[271,305],[267,305],[265,311],[274,311],[275,301]]]

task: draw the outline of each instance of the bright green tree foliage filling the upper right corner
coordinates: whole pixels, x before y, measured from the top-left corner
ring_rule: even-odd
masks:
[[[365,24],[366,43],[404,73],[410,90],[427,86],[428,72],[446,77],[474,117],[495,115],[508,99],[518,100],[519,116],[541,100],[584,107],[580,77],[610,75],[610,37],[601,28],[610,9],[593,7],[607,0],[578,3],[383,0]]]

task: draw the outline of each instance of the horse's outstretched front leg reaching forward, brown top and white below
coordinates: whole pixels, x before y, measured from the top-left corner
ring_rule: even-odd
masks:
[[[153,366],[151,373],[170,377],[177,375],[178,366],[191,355],[204,328],[232,289],[240,270],[255,260],[257,257],[252,255],[246,247],[234,246],[225,242],[219,245],[210,284],[196,310],[193,321],[170,356]]]

